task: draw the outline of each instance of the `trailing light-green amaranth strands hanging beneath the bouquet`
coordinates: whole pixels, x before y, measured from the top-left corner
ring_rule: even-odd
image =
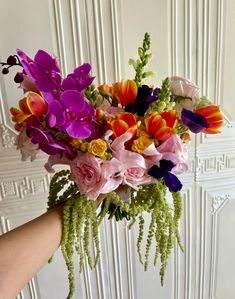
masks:
[[[68,269],[69,294],[67,299],[72,298],[75,289],[74,279],[74,251],[79,256],[79,270],[83,270],[84,258],[88,260],[90,268],[99,261],[100,243],[98,226],[109,215],[109,219],[131,220],[129,228],[139,219],[139,234],[137,238],[137,252],[140,262],[147,270],[149,253],[152,243],[155,243],[154,265],[160,257],[161,284],[164,281],[167,260],[175,239],[181,249],[182,244],[179,237],[179,219],[182,213],[182,198],[179,192],[172,193],[173,210],[166,201],[166,186],[162,180],[158,184],[142,186],[138,191],[132,190],[130,203],[124,202],[116,192],[105,195],[97,214],[96,202],[88,200],[80,194],[74,183],[69,181],[69,171],[60,171],[54,175],[50,184],[48,207],[53,208],[61,202],[65,202],[63,213],[63,235],[61,250]],[[141,253],[141,245],[144,236],[145,221],[143,213],[150,214],[147,240],[145,245],[144,259]],[[90,236],[94,240],[95,257],[90,253]]]

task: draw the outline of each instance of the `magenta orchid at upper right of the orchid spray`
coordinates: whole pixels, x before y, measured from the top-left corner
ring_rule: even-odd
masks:
[[[84,63],[69,74],[62,82],[63,90],[77,90],[82,91],[86,89],[95,79],[90,77],[89,72],[91,66],[89,63]]]

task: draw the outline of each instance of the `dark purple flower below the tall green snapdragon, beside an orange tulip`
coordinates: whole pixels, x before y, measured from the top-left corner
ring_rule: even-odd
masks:
[[[158,95],[157,89],[152,89],[147,85],[142,85],[138,88],[136,101],[126,105],[125,111],[137,114],[138,116],[144,116],[148,110],[150,104],[157,100]]]

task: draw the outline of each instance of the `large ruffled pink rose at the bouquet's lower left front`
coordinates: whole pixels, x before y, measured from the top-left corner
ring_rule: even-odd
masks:
[[[115,176],[121,170],[116,159],[103,161],[85,153],[72,160],[70,166],[70,179],[89,199],[96,200],[100,194],[111,192],[121,184],[121,179]]]

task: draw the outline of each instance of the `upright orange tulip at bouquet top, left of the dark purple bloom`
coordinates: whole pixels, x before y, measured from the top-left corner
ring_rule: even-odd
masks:
[[[134,80],[125,80],[113,84],[115,98],[122,106],[134,103],[137,91],[138,88]]]

